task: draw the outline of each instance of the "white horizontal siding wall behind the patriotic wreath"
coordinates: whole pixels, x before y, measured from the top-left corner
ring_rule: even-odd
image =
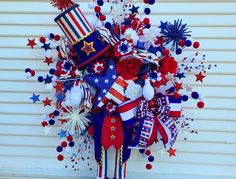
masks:
[[[83,9],[87,9],[85,2],[80,1]],[[53,22],[56,14],[46,0],[0,0],[0,178],[94,175],[87,170],[65,170],[57,162],[54,148],[58,139],[43,135],[42,105],[29,100],[33,92],[46,95],[46,90],[25,80],[23,70],[26,66],[42,72],[46,68],[41,59],[32,57],[27,38],[60,32]],[[207,62],[218,68],[209,72],[204,84],[195,85],[206,96],[206,108],[199,111],[191,104],[186,106],[194,114],[193,127],[199,134],[180,132],[177,156],[169,159],[158,153],[154,169],[148,173],[146,163],[134,154],[128,165],[130,178],[236,177],[236,1],[161,0],[152,16],[154,23],[176,18],[189,24]]]

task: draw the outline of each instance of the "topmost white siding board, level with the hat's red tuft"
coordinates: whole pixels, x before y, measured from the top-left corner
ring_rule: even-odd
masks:
[[[79,2],[80,8],[86,10],[88,13],[92,13],[93,11],[88,8],[87,2]],[[142,5],[141,3],[137,3],[137,5]],[[18,8],[16,9],[15,6]],[[168,6],[168,9],[166,9]],[[192,8],[192,7],[195,8]],[[105,13],[108,13],[107,4],[104,5]],[[165,1],[158,2],[156,8],[152,9],[152,14],[234,14],[236,5],[233,2],[229,3],[201,3],[201,2],[193,2],[193,3],[168,3]],[[171,9],[171,11],[169,11]],[[42,14],[42,13],[53,13],[59,14],[59,11],[56,8],[50,6],[48,2],[1,2],[0,12],[2,13],[34,13],[34,14]]]

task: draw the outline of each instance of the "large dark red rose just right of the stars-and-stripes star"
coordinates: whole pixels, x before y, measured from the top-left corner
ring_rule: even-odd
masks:
[[[140,59],[128,57],[116,65],[116,71],[124,80],[130,80],[137,76],[141,66],[142,61]]]

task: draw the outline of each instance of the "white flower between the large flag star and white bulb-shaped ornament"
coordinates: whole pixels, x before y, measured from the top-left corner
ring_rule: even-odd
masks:
[[[142,87],[138,84],[135,84],[133,81],[129,82],[125,90],[125,96],[131,100],[135,100],[142,96]]]

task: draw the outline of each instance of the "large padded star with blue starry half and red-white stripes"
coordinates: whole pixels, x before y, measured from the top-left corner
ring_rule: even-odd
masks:
[[[128,83],[123,78],[118,77],[115,63],[112,60],[108,61],[107,70],[103,76],[87,75],[84,80],[98,89],[94,108],[102,107],[109,100],[117,104],[126,100],[124,90]]]

